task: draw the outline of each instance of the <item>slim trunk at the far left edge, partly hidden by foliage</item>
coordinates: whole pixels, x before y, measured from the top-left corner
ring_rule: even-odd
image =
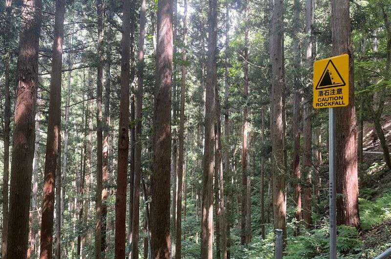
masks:
[[[7,19],[11,19],[12,0],[5,1],[5,12]],[[7,258],[7,238],[8,238],[8,181],[9,181],[9,139],[10,139],[10,118],[11,118],[11,98],[10,98],[10,63],[11,50],[7,49],[5,57],[5,81],[4,81],[4,171],[3,171],[3,225],[1,235],[1,255]]]

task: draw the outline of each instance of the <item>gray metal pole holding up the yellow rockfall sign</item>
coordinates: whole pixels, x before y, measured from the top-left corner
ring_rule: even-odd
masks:
[[[328,108],[330,259],[337,258],[335,108]]]

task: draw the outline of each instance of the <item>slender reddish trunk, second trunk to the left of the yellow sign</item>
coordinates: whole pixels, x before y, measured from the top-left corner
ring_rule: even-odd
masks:
[[[294,51],[294,95],[293,95],[293,118],[292,118],[292,138],[293,138],[293,161],[292,161],[292,177],[293,177],[293,202],[296,207],[295,218],[299,223],[302,219],[302,195],[300,186],[300,124],[302,120],[301,114],[301,82],[299,66],[301,63],[301,48],[299,40],[300,32],[300,0],[295,0],[293,3],[293,51]],[[299,233],[299,226],[295,227],[295,235]]]

